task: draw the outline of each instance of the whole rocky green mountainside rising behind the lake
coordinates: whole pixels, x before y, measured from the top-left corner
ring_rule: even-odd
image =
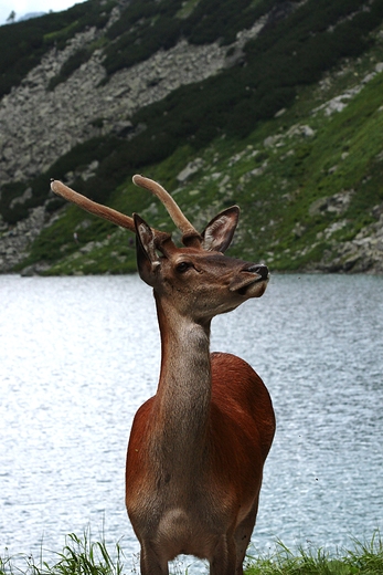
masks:
[[[383,273],[383,0],[88,0],[0,27],[0,96],[1,272],[135,270],[49,181],[171,229],[142,172],[234,255]]]

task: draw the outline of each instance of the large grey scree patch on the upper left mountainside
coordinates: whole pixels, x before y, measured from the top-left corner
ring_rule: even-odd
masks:
[[[118,7],[111,11],[106,29],[119,12]],[[52,49],[0,102],[0,186],[33,178],[76,144],[92,137],[129,132],[129,117],[137,109],[164,98],[180,85],[199,82],[235,64],[245,42],[255,38],[266,21],[267,17],[263,17],[251,29],[241,31],[228,48],[219,42],[191,45],[181,40],[174,48],[159,50],[145,62],[117,72],[105,85],[104,53],[96,50],[66,82],[49,90],[62,65],[95,42],[105,29],[91,28],[71,39],[64,50]],[[97,163],[83,170],[84,177],[92,176],[95,167]],[[22,203],[30,194],[25,188],[13,201]],[[0,220],[0,272],[11,271],[25,258],[29,247],[50,221],[43,206],[31,209],[29,217],[11,229]]]

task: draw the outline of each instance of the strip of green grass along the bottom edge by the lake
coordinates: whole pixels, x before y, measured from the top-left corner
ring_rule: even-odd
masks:
[[[138,573],[138,566],[124,557],[117,543],[108,550],[104,541],[93,542],[85,533],[78,537],[70,534],[55,560],[46,562],[43,554],[36,560],[29,555],[0,556],[0,575],[123,575]],[[188,573],[177,563],[171,573]],[[383,575],[383,540],[376,531],[371,541],[352,541],[352,550],[340,550],[337,554],[325,548],[297,552],[277,542],[276,550],[267,556],[248,556],[247,575]]]

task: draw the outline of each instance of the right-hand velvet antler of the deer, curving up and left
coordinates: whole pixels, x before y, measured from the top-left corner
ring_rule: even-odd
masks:
[[[198,240],[195,243],[200,245],[202,238],[201,234],[195,230],[194,226],[188,220],[188,218],[182,213],[181,208],[175,203],[170,194],[160,186],[155,180],[146,178],[145,176],[139,176],[138,174],[132,177],[134,184],[141,188],[145,188],[157,198],[161,200],[163,206],[166,207],[169,216],[178,227],[178,229],[182,232],[182,241],[183,243],[193,243],[193,240]]]

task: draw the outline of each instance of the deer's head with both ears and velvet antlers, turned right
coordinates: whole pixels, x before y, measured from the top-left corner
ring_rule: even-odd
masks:
[[[159,184],[142,176],[135,176],[134,182],[151,191],[166,206],[182,233],[182,248],[175,245],[170,233],[151,228],[137,213],[132,218],[125,216],[57,180],[51,182],[51,188],[91,213],[135,232],[140,278],[153,288],[157,296],[169,300],[181,315],[209,321],[249,297],[263,295],[268,281],[266,265],[224,255],[238,222],[237,206],[220,212],[199,233]]]

